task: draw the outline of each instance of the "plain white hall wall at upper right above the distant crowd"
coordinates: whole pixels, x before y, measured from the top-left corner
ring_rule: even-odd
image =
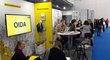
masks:
[[[110,21],[110,0],[76,0],[74,3],[77,9],[94,10],[94,18],[100,19],[103,17]]]

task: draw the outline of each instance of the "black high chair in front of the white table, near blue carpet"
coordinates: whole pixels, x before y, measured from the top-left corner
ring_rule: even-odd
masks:
[[[85,42],[85,38],[75,39],[74,41],[75,50],[72,55],[74,60],[85,60],[85,59],[88,60],[88,57],[85,52],[86,44],[87,43]]]

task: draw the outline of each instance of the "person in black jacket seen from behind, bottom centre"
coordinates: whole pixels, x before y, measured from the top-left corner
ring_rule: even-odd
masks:
[[[48,60],[66,60],[60,41],[55,41],[54,46],[50,49]]]

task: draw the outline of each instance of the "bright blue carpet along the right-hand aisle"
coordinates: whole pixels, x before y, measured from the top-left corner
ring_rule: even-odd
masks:
[[[95,34],[92,60],[110,60],[110,28],[106,29],[101,36]]]

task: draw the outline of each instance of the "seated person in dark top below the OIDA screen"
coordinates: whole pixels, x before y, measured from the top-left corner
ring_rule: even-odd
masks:
[[[15,48],[15,54],[13,55],[11,60],[28,60],[29,56],[26,57],[22,50],[25,48],[25,43],[23,40],[18,41],[17,46]]]

